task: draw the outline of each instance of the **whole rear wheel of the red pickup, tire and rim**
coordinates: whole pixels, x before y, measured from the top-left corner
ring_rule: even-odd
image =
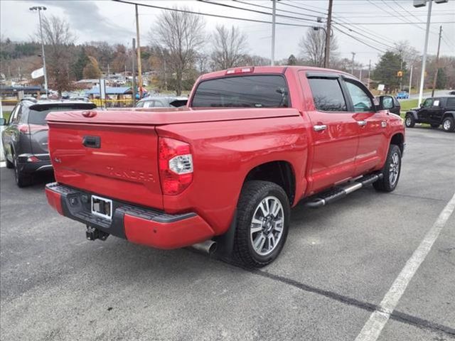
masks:
[[[268,181],[245,183],[237,204],[235,258],[248,267],[272,263],[286,242],[289,217],[283,188]]]

